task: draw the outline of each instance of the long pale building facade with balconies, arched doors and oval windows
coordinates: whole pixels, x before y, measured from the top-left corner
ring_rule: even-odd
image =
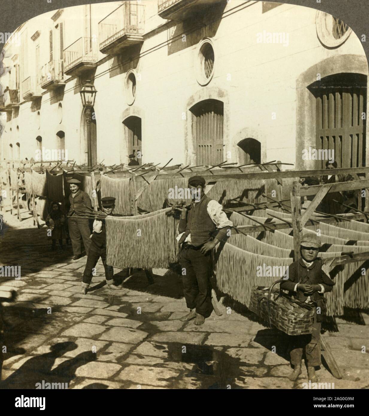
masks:
[[[134,153],[140,163],[319,168],[302,158],[312,147],[335,149],[338,167],[369,166],[362,42],[323,12],[263,1],[99,3],[37,16],[13,35],[0,79],[1,160],[44,148],[87,163],[79,91],[91,80],[92,164]]]

